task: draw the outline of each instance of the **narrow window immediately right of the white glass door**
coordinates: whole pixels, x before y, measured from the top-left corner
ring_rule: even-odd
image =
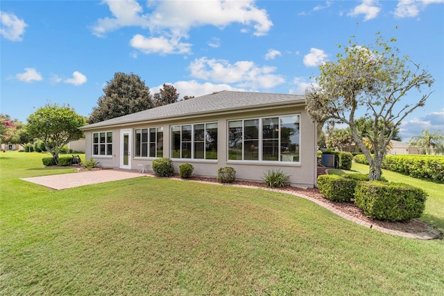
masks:
[[[162,127],[135,129],[135,157],[163,157],[164,130]]]

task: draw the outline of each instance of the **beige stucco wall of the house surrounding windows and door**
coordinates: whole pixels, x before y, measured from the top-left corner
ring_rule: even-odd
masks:
[[[257,117],[268,117],[277,115],[300,115],[300,163],[259,162],[259,161],[228,161],[228,120],[246,120]],[[199,116],[180,120],[169,120],[168,122],[157,122],[152,124],[133,124],[122,126],[121,129],[154,128],[163,126],[164,129],[164,157],[170,158],[171,136],[170,126],[176,124],[198,124],[207,122],[218,123],[218,159],[212,161],[194,159],[174,159],[175,172],[179,172],[179,165],[190,163],[194,166],[196,176],[217,176],[219,167],[234,167],[237,179],[262,181],[264,173],[268,170],[280,169],[290,175],[293,185],[313,187],[316,183],[316,126],[308,117],[303,106],[290,108],[275,108],[272,110],[251,110],[237,112],[234,114]],[[94,156],[102,167],[120,167],[120,128],[97,129],[94,132],[112,131],[112,156]],[[134,139],[132,139],[132,143]],[[85,140],[86,158],[92,156],[92,131],[86,132]],[[133,153],[132,153],[133,154]],[[145,165],[145,170],[152,172],[151,163],[154,158],[130,158],[131,170],[140,170],[139,164]]]

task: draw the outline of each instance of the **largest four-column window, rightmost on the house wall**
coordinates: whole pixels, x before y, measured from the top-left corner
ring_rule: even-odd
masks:
[[[299,162],[300,115],[228,122],[228,160]]]

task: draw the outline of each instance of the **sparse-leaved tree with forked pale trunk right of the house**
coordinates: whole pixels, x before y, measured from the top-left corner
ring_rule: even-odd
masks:
[[[418,101],[403,101],[405,94],[434,83],[427,70],[408,56],[398,56],[398,49],[391,46],[395,41],[384,41],[380,33],[375,45],[368,47],[349,40],[336,61],[319,66],[321,74],[305,92],[307,112],[318,124],[334,120],[350,126],[353,140],[370,163],[370,180],[381,179],[382,161],[395,129],[413,110],[424,106],[432,92],[420,95]],[[355,123],[358,108],[364,108],[365,120],[372,122],[373,156]]]

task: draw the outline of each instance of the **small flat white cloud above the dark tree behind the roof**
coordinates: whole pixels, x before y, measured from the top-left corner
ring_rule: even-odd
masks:
[[[137,34],[130,40],[130,44],[144,54],[189,54],[191,52],[191,44],[180,42],[180,38],[167,39],[163,36],[146,38]]]

